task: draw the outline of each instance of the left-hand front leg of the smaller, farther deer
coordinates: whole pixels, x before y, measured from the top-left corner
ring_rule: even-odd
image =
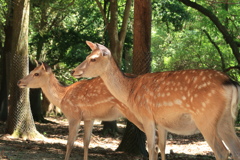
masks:
[[[69,127],[68,127],[69,128],[69,135],[68,135],[67,152],[66,152],[66,155],[65,155],[65,160],[69,160],[74,141],[77,137],[79,125],[80,125],[79,120],[69,121]]]

